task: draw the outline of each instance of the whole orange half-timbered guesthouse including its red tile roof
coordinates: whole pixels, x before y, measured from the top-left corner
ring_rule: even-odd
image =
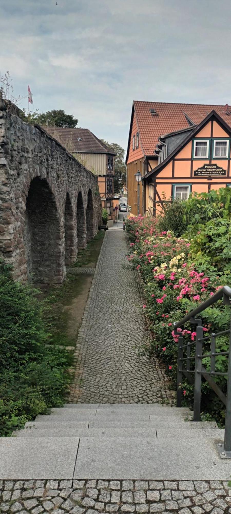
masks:
[[[158,214],[163,197],[186,198],[231,185],[230,141],[227,105],[133,102],[126,157],[129,212]]]

